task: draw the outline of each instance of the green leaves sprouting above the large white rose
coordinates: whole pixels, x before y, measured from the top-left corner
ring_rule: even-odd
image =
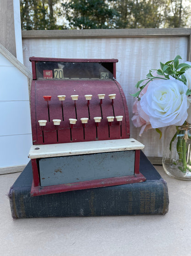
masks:
[[[142,89],[153,79],[158,78],[158,79],[165,79],[168,80],[170,79],[170,76],[183,82],[186,84],[186,77],[184,76],[184,72],[186,69],[191,68],[191,65],[186,64],[186,63],[180,63],[179,60],[182,59],[180,55],[177,55],[174,60],[169,60],[166,63],[160,62],[160,69],[152,69],[149,70],[149,73],[146,75],[146,79],[140,80],[139,82],[136,83],[135,87],[139,89],[135,94],[131,94],[134,97],[137,97],[138,100],[140,100],[140,92]],[[152,71],[157,71],[157,75],[155,76],[152,74]],[[144,82],[144,84],[142,84]],[[141,85],[142,84],[142,85]],[[191,95],[191,90],[187,90],[186,95]]]

